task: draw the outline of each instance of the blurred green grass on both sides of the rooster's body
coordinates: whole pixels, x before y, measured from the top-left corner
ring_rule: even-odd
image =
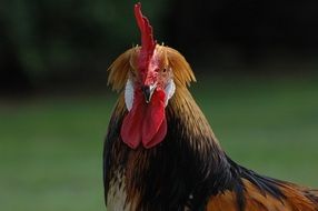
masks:
[[[228,154],[318,187],[318,82],[201,80],[195,98]],[[115,94],[0,102],[0,207],[102,211],[102,142]]]

